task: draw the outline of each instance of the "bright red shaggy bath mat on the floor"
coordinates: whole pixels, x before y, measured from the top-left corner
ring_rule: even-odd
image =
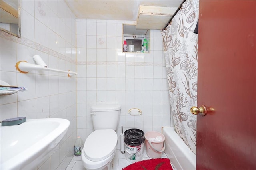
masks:
[[[122,170],[172,170],[172,166],[168,158],[158,158],[135,162]]]

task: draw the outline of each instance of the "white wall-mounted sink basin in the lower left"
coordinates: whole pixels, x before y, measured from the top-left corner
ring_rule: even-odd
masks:
[[[2,170],[34,169],[58,145],[70,121],[60,118],[28,119],[20,125],[1,126]]]

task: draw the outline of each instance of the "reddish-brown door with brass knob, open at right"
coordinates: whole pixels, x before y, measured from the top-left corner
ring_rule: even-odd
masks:
[[[256,1],[199,4],[196,169],[256,170]]]

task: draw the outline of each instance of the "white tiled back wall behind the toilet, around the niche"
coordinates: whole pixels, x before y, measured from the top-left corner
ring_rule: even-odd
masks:
[[[131,22],[77,20],[77,68],[84,68],[77,78],[78,135],[83,140],[93,131],[92,105],[122,105],[118,133],[121,126],[161,132],[171,125],[161,32],[150,30],[150,53],[122,53],[123,23]],[[142,115],[127,113],[134,107]]]

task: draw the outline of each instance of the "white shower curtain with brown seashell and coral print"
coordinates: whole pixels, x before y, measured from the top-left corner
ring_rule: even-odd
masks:
[[[196,116],[190,107],[197,105],[198,10],[199,0],[187,0],[162,31],[175,130],[195,154]]]

